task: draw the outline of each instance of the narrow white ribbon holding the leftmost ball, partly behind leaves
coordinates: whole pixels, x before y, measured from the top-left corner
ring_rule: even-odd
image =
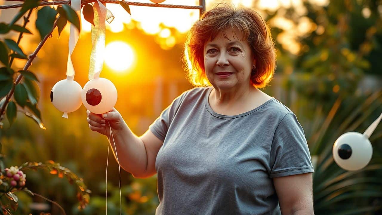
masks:
[[[80,16],[81,11],[81,0],[71,0],[71,8],[76,11],[77,15]],[[69,53],[68,53],[68,63],[66,65],[66,79],[74,79],[74,67],[71,61],[71,54],[73,53],[74,47],[79,39],[79,32],[74,24],[70,23],[70,36],[69,36]]]

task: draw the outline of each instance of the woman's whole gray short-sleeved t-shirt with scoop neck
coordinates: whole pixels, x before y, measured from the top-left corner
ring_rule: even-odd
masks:
[[[272,178],[313,172],[303,128],[275,98],[218,114],[211,90],[184,92],[150,125],[163,140],[156,214],[281,214]]]

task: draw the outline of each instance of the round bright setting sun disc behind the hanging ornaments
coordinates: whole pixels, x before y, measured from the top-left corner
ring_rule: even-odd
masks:
[[[113,70],[127,70],[131,67],[133,61],[133,49],[125,42],[115,41],[105,47],[105,63]]]

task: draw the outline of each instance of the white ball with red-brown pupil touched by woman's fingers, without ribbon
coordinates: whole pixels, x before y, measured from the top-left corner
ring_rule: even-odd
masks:
[[[117,103],[117,88],[106,78],[94,78],[84,86],[81,99],[86,109],[103,114],[111,111]]]

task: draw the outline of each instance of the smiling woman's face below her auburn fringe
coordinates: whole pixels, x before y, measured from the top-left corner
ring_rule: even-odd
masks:
[[[210,83],[220,90],[249,86],[252,65],[256,65],[248,41],[233,36],[232,30],[204,44],[204,69]],[[237,35],[241,38],[241,35]]]

